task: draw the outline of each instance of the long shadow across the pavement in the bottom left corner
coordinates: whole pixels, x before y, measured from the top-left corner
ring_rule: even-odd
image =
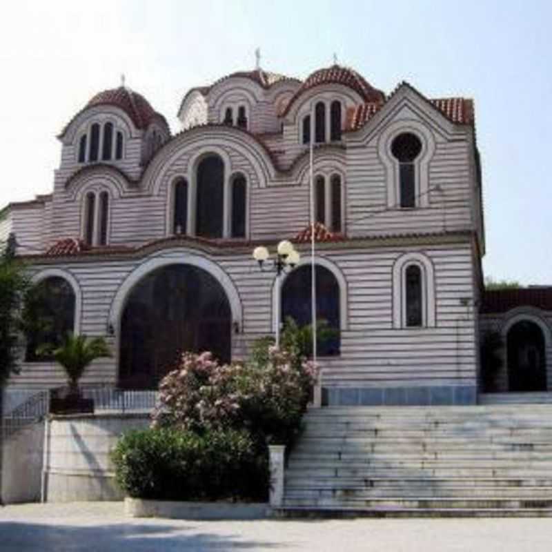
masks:
[[[203,528],[205,529],[205,528]],[[238,534],[197,533],[194,526],[182,524],[112,524],[78,526],[0,522],[2,552],[145,552],[217,551],[277,549],[277,542],[243,540]]]

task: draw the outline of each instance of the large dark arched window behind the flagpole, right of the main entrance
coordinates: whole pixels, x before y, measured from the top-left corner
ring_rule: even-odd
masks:
[[[325,266],[316,266],[316,317],[328,323],[329,335],[318,335],[319,355],[339,355],[340,304],[339,284]],[[293,318],[299,327],[312,324],[312,267],[295,268],[282,286],[282,322]],[[322,333],[322,332],[321,332]],[[326,334],[328,332],[325,332]]]

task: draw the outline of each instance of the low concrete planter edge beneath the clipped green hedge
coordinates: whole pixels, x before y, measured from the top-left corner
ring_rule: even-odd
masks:
[[[173,520],[264,520],[270,515],[270,506],[258,502],[172,502],[127,497],[125,513],[130,517]]]

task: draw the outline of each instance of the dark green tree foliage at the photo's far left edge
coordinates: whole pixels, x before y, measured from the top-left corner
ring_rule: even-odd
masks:
[[[0,256],[0,386],[17,372],[21,306],[29,288],[25,266],[9,255]]]

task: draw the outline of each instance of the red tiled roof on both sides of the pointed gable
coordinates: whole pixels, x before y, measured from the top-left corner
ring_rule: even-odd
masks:
[[[435,108],[458,124],[473,124],[473,101],[466,98],[429,99]],[[345,119],[345,130],[352,131],[362,128],[382,107],[384,102],[372,101],[348,108]]]

